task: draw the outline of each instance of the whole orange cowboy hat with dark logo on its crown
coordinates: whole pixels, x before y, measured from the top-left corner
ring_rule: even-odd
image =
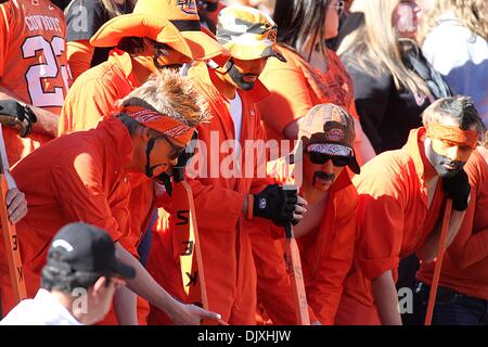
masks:
[[[175,30],[178,36],[174,35]],[[230,57],[229,51],[201,26],[195,0],[139,0],[131,14],[116,16],[105,23],[90,43],[114,47],[121,38],[130,36],[166,43],[194,61],[214,60],[224,65]],[[184,38],[184,44],[176,47],[176,37],[179,40]]]

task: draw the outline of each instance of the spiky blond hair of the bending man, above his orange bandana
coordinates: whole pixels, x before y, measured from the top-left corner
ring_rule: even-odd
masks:
[[[198,88],[187,77],[163,69],[141,87],[134,89],[116,106],[141,106],[196,127],[210,119],[208,103]]]

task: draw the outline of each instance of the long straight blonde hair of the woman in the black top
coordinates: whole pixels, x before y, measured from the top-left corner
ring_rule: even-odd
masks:
[[[355,67],[369,75],[390,74],[397,89],[403,87],[431,97],[427,83],[403,64],[401,38],[391,24],[391,14],[399,2],[355,0],[355,10],[363,12],[364,22],[343,40],[337,52],[350,53]],[[412,44],[418,47],[415,42]]]

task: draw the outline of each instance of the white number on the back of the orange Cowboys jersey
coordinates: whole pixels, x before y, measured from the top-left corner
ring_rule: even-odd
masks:
[[[42,36],[33,36],[24,41],[22,54],[25,59],[36,56],[38,51],[42,51],[44,57],[44,63],[31,65],[25,75],[29,97],[34,106],[63,106],[63,87],[54,86],[54,91],[46,92],[42,87],[42,79],[56,78],[61,69],[61,76],[63,77],[64,87],[67,92],[70,73],[65,65],[61,65],[61,68],[59,68],[55,59],[56,56],[61,56],[64,50],[64,39],[59,36],[53,37],[51,42]]]

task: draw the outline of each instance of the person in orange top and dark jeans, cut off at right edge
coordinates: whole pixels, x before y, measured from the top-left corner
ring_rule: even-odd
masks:
[[[461,229],[442,260],[434,325],[487,325],[488,291],[485,250],[488,215],[488,142],[478,145],[464,167],[472,187],[471,203]],[[433,282],[434,264],[422,264],[416,274],[413,317],[423,324]]]

